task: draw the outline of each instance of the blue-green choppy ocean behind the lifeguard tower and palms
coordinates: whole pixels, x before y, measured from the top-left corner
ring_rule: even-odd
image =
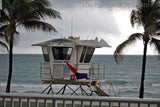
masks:
[[[47,87],[40,81],[41,62],[43,62],[42,55],[14,55],[12,93],[41,93]],[[117,92],[116,95],[120,97],[139,96],[142,56],[124,56],[121,63],[117,65],[112,55],[94,55],[91,62],[106,65],[106,81],[102,83],[102,87],[107,93],[114,96],[114,91],[110,90],[110,84],[112,84]],[[147,56],[145,76],[144,97],[160,98],[160,60],[157,56]],[[7,77],[8,55],[0,54],[0,92],[5,92]],[[54,85],[53,87],[60,88],[62,86]],[[72,88],[76,88],[76,86],[72,86]]]

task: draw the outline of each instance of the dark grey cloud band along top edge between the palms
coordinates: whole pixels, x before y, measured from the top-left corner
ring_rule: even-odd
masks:
[[[137,0],[54,0],[53,6],[60,9],[65,8],[133,8]]]

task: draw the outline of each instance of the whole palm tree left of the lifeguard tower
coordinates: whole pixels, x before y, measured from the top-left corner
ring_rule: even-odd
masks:
[[[51,8],[48,0],[2,0],[2,9],[0,9],[2,29],[0,32],[9,44],[9,74],[6,92],[10,92],[13,46],[19,35],[17,27],[24,27],[28,31],[38,29],[45,32],[56,32],[52,25],[42,21],[46,17],[61,19],[60,13]],[[2,46],[7,47],[4,44],[1,42]]]

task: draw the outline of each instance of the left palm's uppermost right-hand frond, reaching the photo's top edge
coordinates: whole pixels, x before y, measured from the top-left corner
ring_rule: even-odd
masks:
[[[46,16],[49,16],[50,18],[61,19],[58,11],[47,7],[44,5],[45,3],[43,4],[43,2],[46,2],[46,0],[33,0],[27,2],[26,4],[28,5],[28,11],[25,14],[19,15],[20,17],[17,17],[16,19],[17,22],[20,22],[19,24],[21,24],[21,22],[25,21],[41,20],[41,18],[44,19]]]

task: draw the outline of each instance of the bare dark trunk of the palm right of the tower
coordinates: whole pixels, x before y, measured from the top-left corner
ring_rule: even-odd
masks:
[[[144,96],[144,80],[145,80],[147,44],[148,42],[145,41],[144,51],[143,51],[142,74],[141,74],[141,85],[140,85],[140,91],[139,91],[139,98],[143,98]]]

